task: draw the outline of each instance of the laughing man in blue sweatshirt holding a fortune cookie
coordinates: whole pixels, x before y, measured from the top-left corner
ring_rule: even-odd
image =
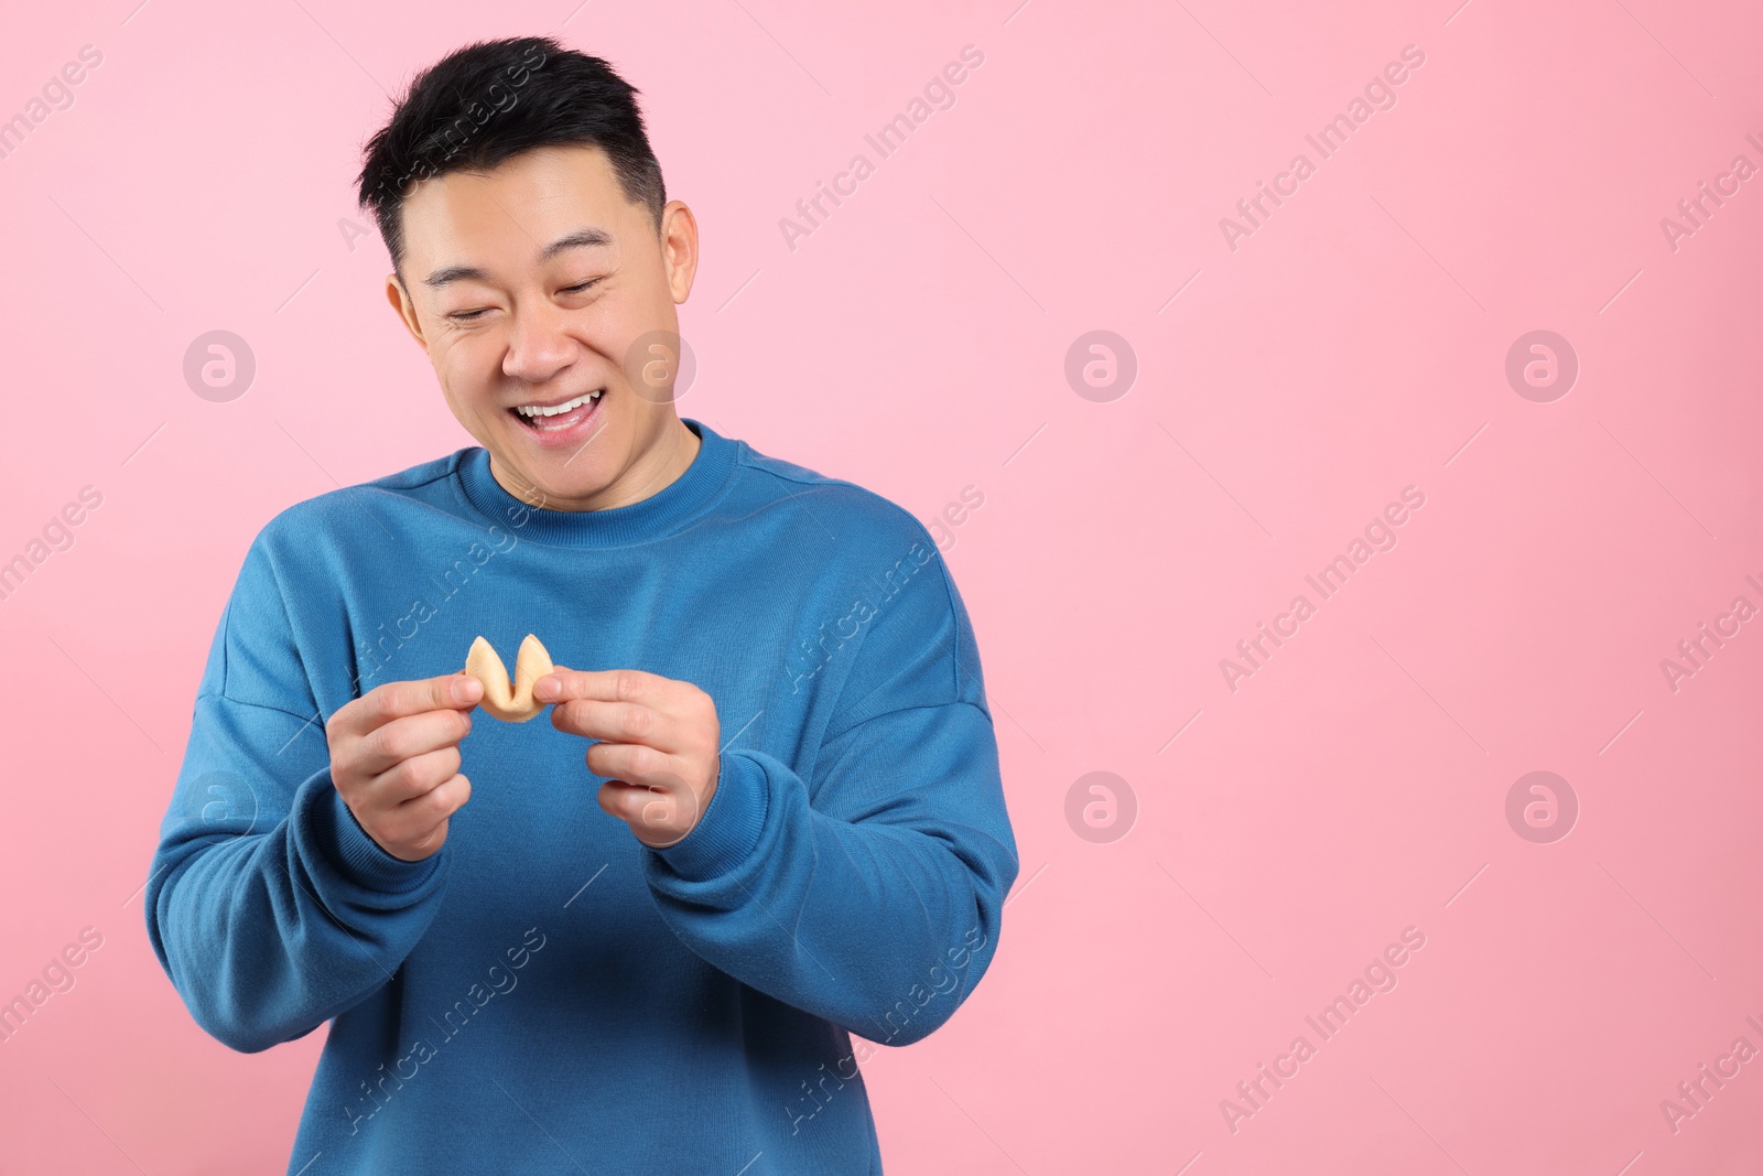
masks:
[[[367,148],[480,444],[257,534],[146,889],[208,1033],[333,1019],[291,1172],[880,1172],[852,1035],[922,1038],[996,950],[966,610],[906,511],[675,414],[698,229],[635,95],[483,42]],[[550,723],[474,714],[472,640],[527,633]]]

